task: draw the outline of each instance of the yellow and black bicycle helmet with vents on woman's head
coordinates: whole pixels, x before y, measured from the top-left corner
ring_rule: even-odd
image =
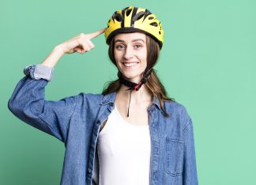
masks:
[[[106,43],[109,45],[111,38],[118,33],[143,32],[156,39],[160,49],[164,43],[164,30],[162,24],[149,9],[129,6],[113,13],[105,30]]]

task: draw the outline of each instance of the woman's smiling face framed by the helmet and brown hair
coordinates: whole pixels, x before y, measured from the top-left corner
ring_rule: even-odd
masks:
[[[122,33],[115,35],[114,56],[122,75],[139,83],[147,66],[147,46],[144,33]]]

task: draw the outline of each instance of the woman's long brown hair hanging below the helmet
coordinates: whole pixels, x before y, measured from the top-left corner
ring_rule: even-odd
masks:
[[[115,37],[111,39],[108,48],[108,57],[110,57],[112,63],[117,67],[114,56],[114,47],[115,47]],[[147,67],[145,72],[148,72],[152,68],[152,72],[147,78],[145,86],[149,88],[149,91],[156,95],[160,101],[160,108],[164,112],[164,117],[169,117],[170,115],[164,110],[164,101],[174,101],[174,98],[169,98],[167,92],[165,91],[164,85],[160,82],[158,76],[156,75],[156,70],[153,69],[153,66],[156,65],[158,56],[160,54],[160,46],[156,43],[155,39],[152,39],[149,35],[146,35],[146,46],[147,46]],[[107,85],[104,86],[104,91],[101,94],[109,94],[115,91],[119,91],[122,84],[119,82],[119,79],[107,82]]]

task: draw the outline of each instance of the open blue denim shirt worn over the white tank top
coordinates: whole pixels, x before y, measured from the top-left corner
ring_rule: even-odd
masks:
[[[64,142],[61,184],[99,184],[97,138],[100,125],[115,108],[116,92],[80,93],[46,101],[44,91],[53,79],[53,72],[54,68],[45,65],[24,68],[25,76],[9,98],[9,110],[25,123]],[[164,117],[159,100],[152,96],[147,109],[151,137],[149,184],[196,185],[192,120],[178,102],[164,101],[164,109],[171,117]]]

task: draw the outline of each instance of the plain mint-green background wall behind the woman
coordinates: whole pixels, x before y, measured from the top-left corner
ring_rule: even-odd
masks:
[[[14,1],[0,6],[0,184],[59,184],[65,147],[24,124],[7,101],[26,65],[81,32],[107,26],[116,9],[141,6],[164,28],[156,70],[168,94],[194,122],[198,179],[203,185],[256,184],[256,2]],[[116,79],[104,35],[86,54],[66,54],[55,66],[47,100],[101,93]]]

